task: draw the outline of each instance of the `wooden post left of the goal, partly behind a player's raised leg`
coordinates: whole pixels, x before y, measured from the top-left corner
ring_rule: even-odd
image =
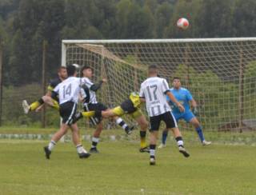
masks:
[[[46,94],[46,50],[47,50],[47,42],[44,40],[42,42],[42,94]],[[42,128],[46,128],[46,106],[43,105],[42,108]]]

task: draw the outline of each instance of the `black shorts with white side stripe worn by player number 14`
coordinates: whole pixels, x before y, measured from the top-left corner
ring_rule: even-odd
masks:
[[[73,101],[66,101],[59,105],[59,114],[62,117],[62,123],[66,125],[74,124],[74,116],[77,112],[77,104]]]

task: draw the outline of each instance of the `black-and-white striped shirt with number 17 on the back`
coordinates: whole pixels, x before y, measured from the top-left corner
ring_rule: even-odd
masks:
[[[166,101],[167,91],[169,91],[169,86],[165,78],[147,78],[142,82],[139,96],[146,99],[146,110],[150,117],[171,110]]]

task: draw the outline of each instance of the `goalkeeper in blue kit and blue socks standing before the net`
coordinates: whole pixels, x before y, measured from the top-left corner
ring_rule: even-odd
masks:
[[[197,117],[195,117],[196,113],[198,113],[197,102],[194,101],[194,98],[190,94],[190,91],[182,87],[180,78],[173,79],[173,86],[174,87],[170,89],[171,93],[174,94],[174,97],[185,108],[185,112],[181,113],[180,110],[177,108],[177,106],[174,105],[174,103],[170,101],[170,98],[167,97],[167,101],[170,103],[170,107],[172,108],[172,113],[174,114],[176,121],[178,122],[180,119],[184,119],[186,122],[194,125],[194,129],[198,133],[198,137],[202,142],[202,145],[210,145],[211,142],[206,141],[202,133],[202,126],[200,125]],[[192,108],[193,108],[192,110],[190,109],[190,105],[192,105]],[[168,131],[164,130],[162,132],[162,143],[161,145],[158,146],[158,148],[165,147],[167,135],[168,135]]]

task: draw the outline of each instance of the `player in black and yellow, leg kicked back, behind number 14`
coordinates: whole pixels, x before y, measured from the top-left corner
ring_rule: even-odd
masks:
[[[65,66],[60,66],[58,68],[58,78],[55,78],[50,81],[49,86],[47,87],[47,93],[46,95],[42,96],[38,101],[34,101],[30,105],[27,103],[26,100],[22,101],[22,107],[24,110],[24,113],[29,113],[30,111],[39,111],[42,108],[42,105],[46,103],[47,105],[50,105],[54,109],[59,109],[58,106],[58,97],[52,99],[51,92],[54,90],[55,86],[58,86],[58,84],[62,81],[64,81],[67,77],[66,74],[66,67]]]

